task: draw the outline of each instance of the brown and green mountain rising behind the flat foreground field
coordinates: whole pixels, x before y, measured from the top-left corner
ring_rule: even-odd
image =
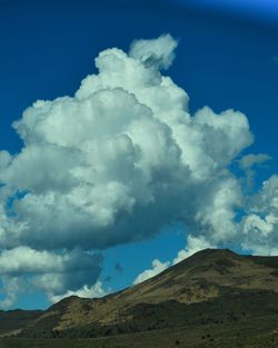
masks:
[[[271,316],[278,322],[278,257],[206,249],[120,292],[100,299],[66,298],[20,335],[116,337],[208,326],[219,331],[229,325],[235,331],[235,326],[255,328],[252,320],[264,327],[261,318],[268,325]]]

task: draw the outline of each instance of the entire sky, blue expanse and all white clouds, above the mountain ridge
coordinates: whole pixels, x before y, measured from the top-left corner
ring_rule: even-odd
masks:
[[[276,1],[0,1],[0,308],[278,255]]]

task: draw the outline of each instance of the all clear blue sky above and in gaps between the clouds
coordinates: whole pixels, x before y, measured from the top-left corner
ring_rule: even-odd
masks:
[[[38,99],[73,96],[88,73],[97,73],[93,59],[100,51],[112,47],[128,51],[135,39],[170,33],[179,44],[175,61],[163,74],[187,91],[191,113],[203,106],[215,112],[240,110],[255,137],[240,156],[272,157],[252,173],[252,190],[259,189],[261,181],[278,169],[278,26],[274,21],[278,9],[274,1],[264,1],[264,6],[261,1],[245,1],[244,7],[235,1],[235,7],[231,1],[225,2],[227,7],[222,3],[1,1],[1,149],[20,152],[22,141],[11,123]],[[242,176],[240,169],[234,171]],[[127,287],[151,267],[153,259],[162,264],[172,260],[185,248],[187,233],[187,228],[167,227],[155,237],[150,233],[138,241],[135,238],[103,248],[99,276],[103,287]],[[225,240],[219,246],[226,246]],[[227,246],[240,250],[231,241]],[[11,308],[44,308],[49,304],[46,291],[38,287],[32,294],[19,292]]]

